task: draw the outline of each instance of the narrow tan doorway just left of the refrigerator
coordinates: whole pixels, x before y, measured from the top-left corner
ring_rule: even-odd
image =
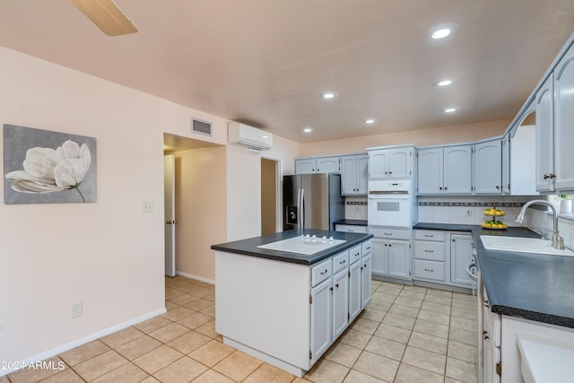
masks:
[[[261,158],[261,235],[280,230],[280,161]]]

